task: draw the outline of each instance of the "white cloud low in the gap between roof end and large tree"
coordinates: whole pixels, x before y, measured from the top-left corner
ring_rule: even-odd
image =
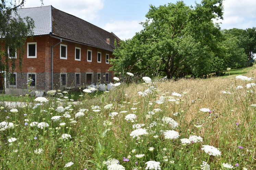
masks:
[[[142,25],[139,24],[138,20],[130,21],[114,21],[111,20],[110,23],[107,23],[103,29],[113,32],[121,40],[132,38],[135,35],[135,32],[139,32],[143,29]]]

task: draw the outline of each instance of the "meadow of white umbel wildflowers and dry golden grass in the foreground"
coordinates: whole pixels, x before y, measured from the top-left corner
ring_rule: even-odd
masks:
[[[256,169],[253,71],[140,83],[128,73],[77,104],[57,90],[2,105],[0,169]]]

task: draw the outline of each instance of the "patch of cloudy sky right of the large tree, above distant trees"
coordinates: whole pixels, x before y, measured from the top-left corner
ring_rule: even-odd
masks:
[[[224,0],[224,15],[221,28],[249,28],[256,23],[255,0]]]

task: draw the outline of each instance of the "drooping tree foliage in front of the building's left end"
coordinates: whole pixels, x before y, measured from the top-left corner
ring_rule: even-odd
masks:
[[[42,1],[42,0],[41,0]],[[13,2],[13,1],[12,1]],[[22,57],[25,53],[27,36],[32,36],[34,22],[32,18],[21,18],[16,10],[24,5],[25,0],[0,2],[0,71],[12,71],[16,68],[15,61],[19,61],[21,69]],[[10,58],[17,55],[17,58]]]

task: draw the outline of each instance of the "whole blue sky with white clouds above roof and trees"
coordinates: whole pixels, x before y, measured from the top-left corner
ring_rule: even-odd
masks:
[[[201,0],[196,0],[200,3]],[[149,5],[175,3],[174,0],[44,0],[44,5],[82,18],[121,39],[132,38],[142,29]],[[195,0],[184,0],[186,5],[195,5]],[[26,0],[25,8],[41,6],[40,0]],[[222,29],[256,27],[256,0],[224,0]]]

